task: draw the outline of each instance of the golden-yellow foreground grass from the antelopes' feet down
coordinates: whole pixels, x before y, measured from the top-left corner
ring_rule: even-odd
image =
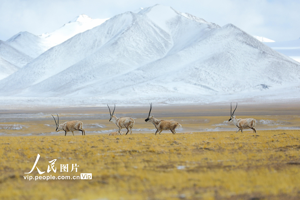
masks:
[[[299,130],[0,137],[0,199],[299,199],[299,139]],[[45,176],[92,179],[25,180],[37,154],[41,171],[57,159]],[[77,173],[60,172],[75,163]]]

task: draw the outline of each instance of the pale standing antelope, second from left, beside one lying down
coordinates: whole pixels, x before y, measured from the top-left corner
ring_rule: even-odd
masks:
[[[110,106],[108,106],[108,104],[107,104],[107,107],[110,110]],[[117,118],[115,116],[116,114],[114,115],[115,109],[116,109],[116,104],[115,104],[115,108],[113,109],[113,114],[111,114],[111,112],[110,112],[110,122],[113,122],[117,125],[117,127],[119,128],[119,130],[118,130],[119,133],[120,133],[122,128],[126,128],[127,132],[126,132],[125,135],[127,135],[127,133],[129,132],[129,129],[130,129],[130,135],[131,135],[132,127],[134,126],[134,119],[131,118],[131,117],[119,117],[119,118]],[[122,135],[122,134],[120,133],[120,135]]]

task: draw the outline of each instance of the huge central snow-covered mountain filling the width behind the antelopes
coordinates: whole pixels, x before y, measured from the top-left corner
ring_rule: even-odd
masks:
[[[0,95],[45,105],[281,101],[300,97],[299,80],[298,62],[238,27],[155,5],[52,47],[1,80]]]

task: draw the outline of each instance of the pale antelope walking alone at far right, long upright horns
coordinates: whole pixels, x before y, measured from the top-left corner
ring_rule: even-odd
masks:
[[[236,103],[236,107],[235,107],[234,111],[236,110],[237,107],[238,107],[238,103]],[[231,117],[228,121],[232,122],[235,126],[238,127],[238,130],[235,133],[237,133],[240,130],[243,133],[243,129],[248,129],[248,128],[252,129],[253,133],[256,133],[256,129],[254,128],[255,125],[256,125],[256,120],[253,119],[253,118],[245,118],[245,119],[239,118],[239,119],[237,119],[235,117],[235,115],[233,115],[234,111],[232,113],[232,107],[231,107],[231,103],[230,103]]]

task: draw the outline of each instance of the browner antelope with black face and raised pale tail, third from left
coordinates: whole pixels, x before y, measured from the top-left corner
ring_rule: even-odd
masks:
[[[145,121],[146,123],[151,122],[155,126],[155,128],[157,129],[155,135],[156,133],[159,133],[161,135],[161,132],[163,130],[170,130],[173,134],[175,134],[175,129],[177,128],[177,126],[181,127],[181,124],[179,124],[177,121],[156,119],[153,117],[153,115],[150,117],[151,109],[152,103],[150,103],[149,115],[148,118],[145,119]]]

